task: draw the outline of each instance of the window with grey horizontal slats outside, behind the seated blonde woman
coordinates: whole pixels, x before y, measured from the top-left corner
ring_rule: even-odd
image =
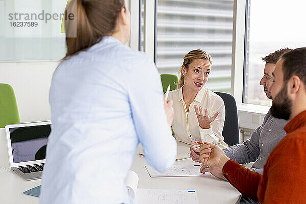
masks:
[[[177,74],[183,57],[202,49],[213,57],[206,86],[231,91],[234,1],[156,0],[155,60],[160,73]]]

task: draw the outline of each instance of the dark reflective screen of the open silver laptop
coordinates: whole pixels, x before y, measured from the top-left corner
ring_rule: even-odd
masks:
[[[45,159],[49,124],[25,127],[11,127],[10,137],[13,162],[29,162]]]

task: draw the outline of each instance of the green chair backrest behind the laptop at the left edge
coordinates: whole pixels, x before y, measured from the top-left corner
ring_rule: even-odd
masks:
[[[20,119],[14,90],[8,84],[0,84],[0,128],[16,123]]]

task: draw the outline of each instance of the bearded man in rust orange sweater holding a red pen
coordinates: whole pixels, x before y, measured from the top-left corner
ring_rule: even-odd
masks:
[[[222,169],[242,194],[261,203],[306,203],[306,48],[282,55],[273,72],[271,115],[290,119],[287,135],[272,150],[264,174],[226,157],[216,145],[200,147],[200,162]]]

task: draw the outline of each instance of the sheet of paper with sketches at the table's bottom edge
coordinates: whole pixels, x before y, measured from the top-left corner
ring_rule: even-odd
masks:
[[[195,190],[137,189],[136,204],[198,204]]]

